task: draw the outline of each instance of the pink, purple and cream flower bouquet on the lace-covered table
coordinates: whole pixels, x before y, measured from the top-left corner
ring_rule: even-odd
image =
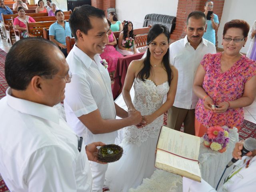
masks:
[[[208,128],[203,136],[204,146],[210,147],[214,151],[225,152],[229,142],[228,133],[228,127],[213,126]]]

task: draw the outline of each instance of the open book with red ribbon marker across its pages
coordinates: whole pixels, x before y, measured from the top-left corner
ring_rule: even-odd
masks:
[[[201,182],[200,137],[162,126],[156,146],[156,168]]]

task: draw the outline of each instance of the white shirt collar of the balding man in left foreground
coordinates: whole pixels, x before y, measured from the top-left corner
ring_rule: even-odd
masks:
[[[21,113],[37,116],[59,124],[59,114],[57,109],[43,104],[16,98],[12,96],[12,89],[10,87],[6,90],[6,97],[7,103],[11,108]]]

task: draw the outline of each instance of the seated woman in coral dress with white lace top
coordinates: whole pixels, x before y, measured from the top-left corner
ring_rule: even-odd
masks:
[[[26,22],[34,23],[36,22],[32,17],[25,15],[23,7],[18,8],[18,17],[14,19],[14,28],[22,31],[22,37],[27,38],[28,32],[26,31]]]

